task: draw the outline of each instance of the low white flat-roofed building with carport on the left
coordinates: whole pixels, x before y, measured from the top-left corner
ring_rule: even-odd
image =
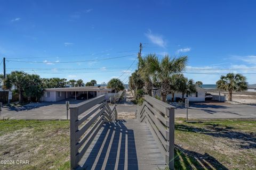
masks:
[[[97,86],[50,88],[44,90],[44,95],[42,96],[41,101],[60,101],[68,98],[76,100],[81,94],[88,100],[100,95],[108,96],[107,94],[111,91],[111,89]]]

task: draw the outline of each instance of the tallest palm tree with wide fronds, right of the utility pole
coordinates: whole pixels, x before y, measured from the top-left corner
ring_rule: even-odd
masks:
[[[166,96],[171,93],[171,77],[175,73],[180,73],[185,70],[188,61],[187,56],[169,57],[165,55],[162,60],[159,60],[156,55],[150,55],[145,72],[150,75],[152,80],[161,84],[161,100],[166,101]],[[153,81],[153,82],[154,82]]]

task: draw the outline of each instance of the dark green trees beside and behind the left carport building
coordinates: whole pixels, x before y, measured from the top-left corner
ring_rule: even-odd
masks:
[[[23,71],[13,71],[6,74],[5,79],[3,74],[0,74],[0,84],[5,90],[11,90],[14,87],[13,92],[18,93],[19,103],[39,101],[45,88],[64,88],[70,85],[72,87],[84,86],[82,79],[67,81],[65,78],[40,78],[37,74],[28,74]],[[97,81],[91,80],[85,86],[94,86],[95,84]]]

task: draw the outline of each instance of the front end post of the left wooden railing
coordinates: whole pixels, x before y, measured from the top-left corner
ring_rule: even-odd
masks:
[[[76,108],[70,108],[70,165],[71,169],[75,169],[78,166],[78,162],[76,159],[76,131],[78,130],[78,126],[76,125],[76,121],[78,121],[78,113]]]

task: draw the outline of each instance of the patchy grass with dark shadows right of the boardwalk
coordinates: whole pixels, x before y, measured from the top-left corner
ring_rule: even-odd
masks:
[[[256,121],[175,123],[177,169],[255,169]]]

